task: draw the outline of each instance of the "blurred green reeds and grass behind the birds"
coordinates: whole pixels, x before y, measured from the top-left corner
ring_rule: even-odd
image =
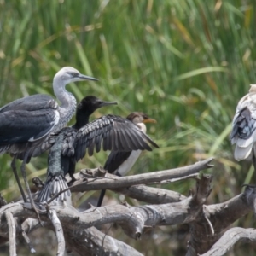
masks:
[[[55,73],[64,66],[76,67],[100,80],[68,85],[78,100],[96,95],[119,102],[97,111],[94,118],[143,111],[158,120],[148,125],[148,134],[160,149],[145,152],[132,173],[214,156],[208,203],[225,201],[239,194],[243,183],[253,183],[250,162],[233,158],[229,134],[237,102],[256,82],[255,1],[0,0],[0,14],[1,106],[36,93],[53,95]],[[85,158],[78,168],[101,166],[107,155]],[[44,177],[46,157],[27,166],[30,179]],[[1,156],[0,191],[13,201],[19,190],[10,160]],[[184,195],[194,187],[193,180],[165,186]],[[79,197],[78,206],[86,196]],[[254,223],[251,214],[236,225]],[[186,227],[160,227],[143,241],[122,236],[121,230],[113,230],[113,236],[146,255],[181,255],[188,232]],[[254,251],[253,245],[235,249],[237,254],[230,255]]]

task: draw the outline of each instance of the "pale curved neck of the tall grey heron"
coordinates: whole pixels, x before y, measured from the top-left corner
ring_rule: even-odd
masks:
[[[68,92],[65,89],[65,85],[66,84],[63,84],[61,79],[54,79],[53,88],[55,96],[61,102],[61,106],[58,109],[60,113],[60,121],[55,130],[59,130],[67,125],[77,108],[75,97],[71,92]]]

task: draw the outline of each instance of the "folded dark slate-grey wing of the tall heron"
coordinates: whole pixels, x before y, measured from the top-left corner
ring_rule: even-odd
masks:
[[[33,95],[0,108],[0,145],[26,143],[49,134],[57,102],[47,95]],[[2,148],[2,147],[1,147]]]

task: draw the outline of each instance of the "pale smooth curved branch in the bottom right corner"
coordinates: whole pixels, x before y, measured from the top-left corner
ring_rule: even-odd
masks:
[[[256,241],[255,229],[232,228],[212,246],[212,248],[201,256],[221,256],[228,253],[237,241]]]

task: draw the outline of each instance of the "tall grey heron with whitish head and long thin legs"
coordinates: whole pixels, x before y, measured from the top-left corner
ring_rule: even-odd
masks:
[[[33,204],[26,181],[26,162],[33,155],[33,150],[44,142],[49,133],[61,130],[75,113],[76,99],[67,92],[65,86],[85,79],[96,80],[84,76],[73,67],[63,67],[55,74],[53,80],[55,96],[61,102],[61,106],[52,97],[38,94],[26,96],[0,108],[0,153],[6,152],[14,156],[12,167],[24,201],[26,196],[16,173],[15,158],[23,160],[21,172]]]

